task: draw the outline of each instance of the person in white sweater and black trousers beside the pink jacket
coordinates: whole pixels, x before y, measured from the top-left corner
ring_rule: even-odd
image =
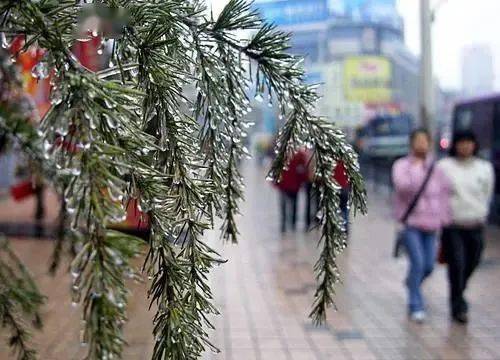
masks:
[[[449,226],[441,239],[448,264],[451,316],[461,324],[468,321],[464,291],[481,259],[494,187],[493,166],[478,158],[478,151],[472,131],[458,132],[453,137],[450,156],[438,164],[450,182]]]

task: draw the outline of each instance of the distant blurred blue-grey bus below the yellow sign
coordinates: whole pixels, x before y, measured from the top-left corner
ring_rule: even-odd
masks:
[[[394,160],[405,156],[413,127],[410,114],[377,115],[358,132],[362,136],[360,152],[373,159]]]

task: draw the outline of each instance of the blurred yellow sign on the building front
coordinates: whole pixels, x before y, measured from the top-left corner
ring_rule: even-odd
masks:
[[[392,100],[391,62],[380,56],[354,56],[344,60],[344,94],[347,100],[368,104]]]

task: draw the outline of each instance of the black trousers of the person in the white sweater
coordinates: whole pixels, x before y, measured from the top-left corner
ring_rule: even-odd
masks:
[[[467,283],[481,260],[484,248],[483,227],[443,230],[442,246],[448,263],[451,314],[467,313],[464,299]]]

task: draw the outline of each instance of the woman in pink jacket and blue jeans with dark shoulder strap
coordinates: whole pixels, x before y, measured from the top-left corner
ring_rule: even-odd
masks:
[[[447,214],[447,182],[430,154],[431,137],[418,129],[410,135],[410,154],[397,160],[392,168],[394,212],[403,224],[401,240],[409,259],[406,287],[408,313],[412,321],[426,318],[421,291],[423,281],[432,273],[436,258],[436,234]]]

